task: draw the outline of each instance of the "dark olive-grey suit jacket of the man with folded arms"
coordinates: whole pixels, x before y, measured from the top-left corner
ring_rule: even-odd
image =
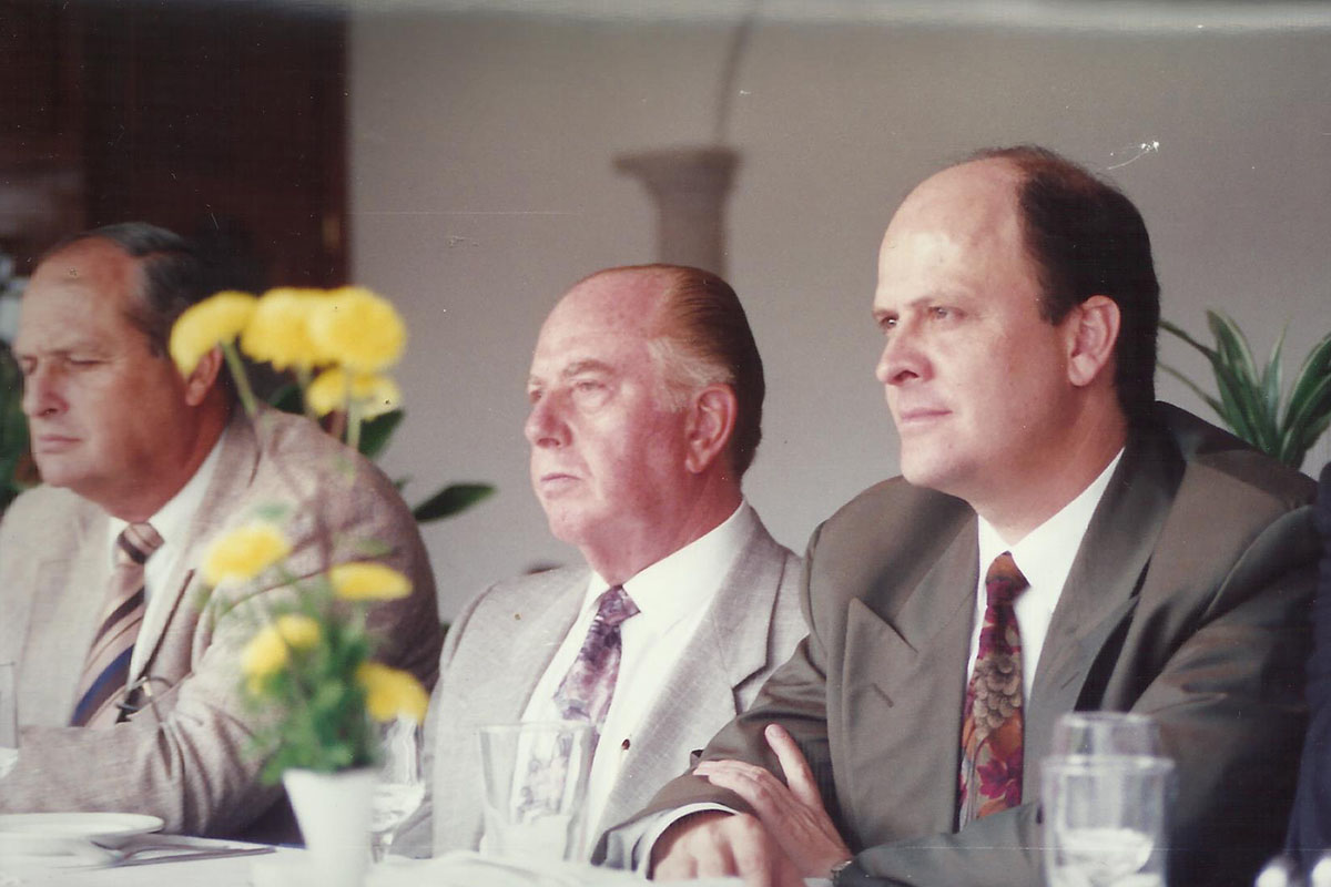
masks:
[[[1038,761],[1055,719],[1141,711],[1178,765],[1171,880],[1250,884],[1279,846],[1304,723],[1312,484],[1182,411],[1159,418],[1129,442],[1054,610],[1022,805],[954,831],[976,515],[900,479],[815,532],[809,637],[705,757],[779,771],[761,730],[784,723],[857,851],[841,883],[1029,886],[1042,883]],[[681,777],[651,810],[693,801],[737,803]],[[634,836],[611,835],[611,862]]]

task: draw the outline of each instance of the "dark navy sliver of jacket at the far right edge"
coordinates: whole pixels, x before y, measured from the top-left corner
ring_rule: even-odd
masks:
[[[1322,531],[1322,574],[1312,609],[1312,656],[1308,658],[1308,707],[1312,711],[1303,743],[1299,790],[1290,817],[1290,850],[1306,867],[1331,848],[1331,463],[1322,469],[1318,491]]]

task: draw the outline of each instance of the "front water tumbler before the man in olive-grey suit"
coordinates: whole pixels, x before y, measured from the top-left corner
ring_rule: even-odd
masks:
[[[1173,779],[1169,758],[1045,758],[1049,887],[1165,887]]]

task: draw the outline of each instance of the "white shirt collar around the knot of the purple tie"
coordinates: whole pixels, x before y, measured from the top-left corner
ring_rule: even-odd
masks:
[[[624,590],[640,613],[662,625],[699,613],[720,590],[744,541],[756,529],[757,515],[743,500],[715,528],[624,581]],[[594,608],[607,588],[610,582],[592,570],[584,606]]]

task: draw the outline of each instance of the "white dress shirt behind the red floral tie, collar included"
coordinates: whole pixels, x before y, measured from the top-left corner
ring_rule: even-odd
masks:
[[[1109,479],[1122,457],[1123,451],[1119,449],[1086,489],[1063,505],[1057,515],[1026,533],[1016,545],[1002,541],[993,524],[980,517],[980,581],[976,584],[976,620],[970,632],[970,656],[966,660],[968,684],[976,668],[980,630],[985,622],[985,573],[996,557],[1010,552],[1017,569],[1030,584],[1013,604],[1017,612],[1017,628],[1021,632],[1022,698],[1029,703],[1030,688],[1036,682],[1036,665],[1040,664],[1040,652],[1045,646],[1045,634],[1049,633],[1049,622],[1054,618],[1054,608],[1058,605],[1091,515],[1095,513],[1095,507],[1099,505],[1105,489],[1109,488]]]

